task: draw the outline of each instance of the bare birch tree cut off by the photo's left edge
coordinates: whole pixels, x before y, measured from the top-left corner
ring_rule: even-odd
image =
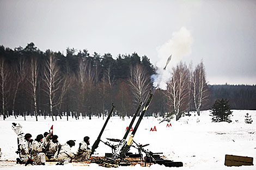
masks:
[[[8,93],[8,80],[9,80],[10,70],[5,62],[4,58],[0,58],[0,87],[1,87],[1,95],[2,95],[2,114],[3,119],[5,120],[5,105],[6,105],[6,98]]]

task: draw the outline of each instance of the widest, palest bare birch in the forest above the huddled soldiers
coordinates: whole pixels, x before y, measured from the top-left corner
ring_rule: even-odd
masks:
[[[59,75],[59,67],[57,66],[56,58],[52,52],[50,52],[48,59],[46,60],[44,70],[44,81],[46,84],[45,92],[49,97],[50,114],[53,119],[53,109],[57,106],[57,92],[60,89],[60,82],[62,78]]]

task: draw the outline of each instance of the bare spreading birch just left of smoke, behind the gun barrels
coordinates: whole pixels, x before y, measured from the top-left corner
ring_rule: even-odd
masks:
[[[128,81],[134,96],[133,103],[137,105],[139,100],[145,101],[151,85],[149,75],[142,65],[130,67],[130,79]]]

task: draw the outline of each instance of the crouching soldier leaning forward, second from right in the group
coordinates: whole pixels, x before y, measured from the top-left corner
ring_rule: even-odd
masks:
[[[58,151],[55,153],[54,158],[59,162],[56,165],[64,165],[74,159],[75,155],[71,152],[71,147],[75,146],[75,141],[69,140],[63,146],[59,146]]]

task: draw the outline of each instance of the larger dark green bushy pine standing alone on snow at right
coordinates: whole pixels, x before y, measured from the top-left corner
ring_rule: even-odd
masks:
[[[212,122],[232,122],[230,116],[232,111],[227,99],[217,99],[212,105],[210,116],[212,116]]]

